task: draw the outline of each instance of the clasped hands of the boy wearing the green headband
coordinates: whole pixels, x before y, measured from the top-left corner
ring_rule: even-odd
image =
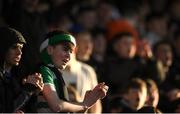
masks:
[[[83,105],[87,108],[93,106],[98,99],[103,99],[108,91],[108,86],[105,83],[99,83],[93,90],[87,91],[83,100]]]

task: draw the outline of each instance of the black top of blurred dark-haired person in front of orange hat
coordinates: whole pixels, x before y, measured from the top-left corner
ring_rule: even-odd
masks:
[[[116,94],[121,90],[131,77],[138,74],[140,66],[133,59],[111,57],[105,60],[105,82],[109,86],[109,92]],[[137,74],[136,74],[137,73]]]

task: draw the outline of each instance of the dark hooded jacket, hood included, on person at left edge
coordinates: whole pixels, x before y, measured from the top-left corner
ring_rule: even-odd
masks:
[[[2,40],[0,42],[0,112],[11,113],[15,110],[23,110],[35,86],[21,85],[18,67],[13,67],[10,73],[4,70],[8,49],[15,43],[26,43],[22,34],[15,29],[1,27],[0,38]]]

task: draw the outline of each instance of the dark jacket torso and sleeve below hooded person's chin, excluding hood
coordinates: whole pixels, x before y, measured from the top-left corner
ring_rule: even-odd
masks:
[[[17,74],[16,70],[12,71],[11,74],[0,70],[0,112],[25,111],[24,106],[36,89],[32,84],[22,86]]]

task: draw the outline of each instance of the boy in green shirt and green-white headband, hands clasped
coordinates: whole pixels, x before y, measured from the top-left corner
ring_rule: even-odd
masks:
[[[85,112],[98,99],[106,96],[108,86],[100,83],[93,90],[86,92],[83,102],[68,101],[61,70],[70,61],[75,47],[75,38],[62,31],[48,33],[41,44],[40,54],[43,65],[40,66],[40,72],[45,85],[42,94],[38,97],[38,112]]]

